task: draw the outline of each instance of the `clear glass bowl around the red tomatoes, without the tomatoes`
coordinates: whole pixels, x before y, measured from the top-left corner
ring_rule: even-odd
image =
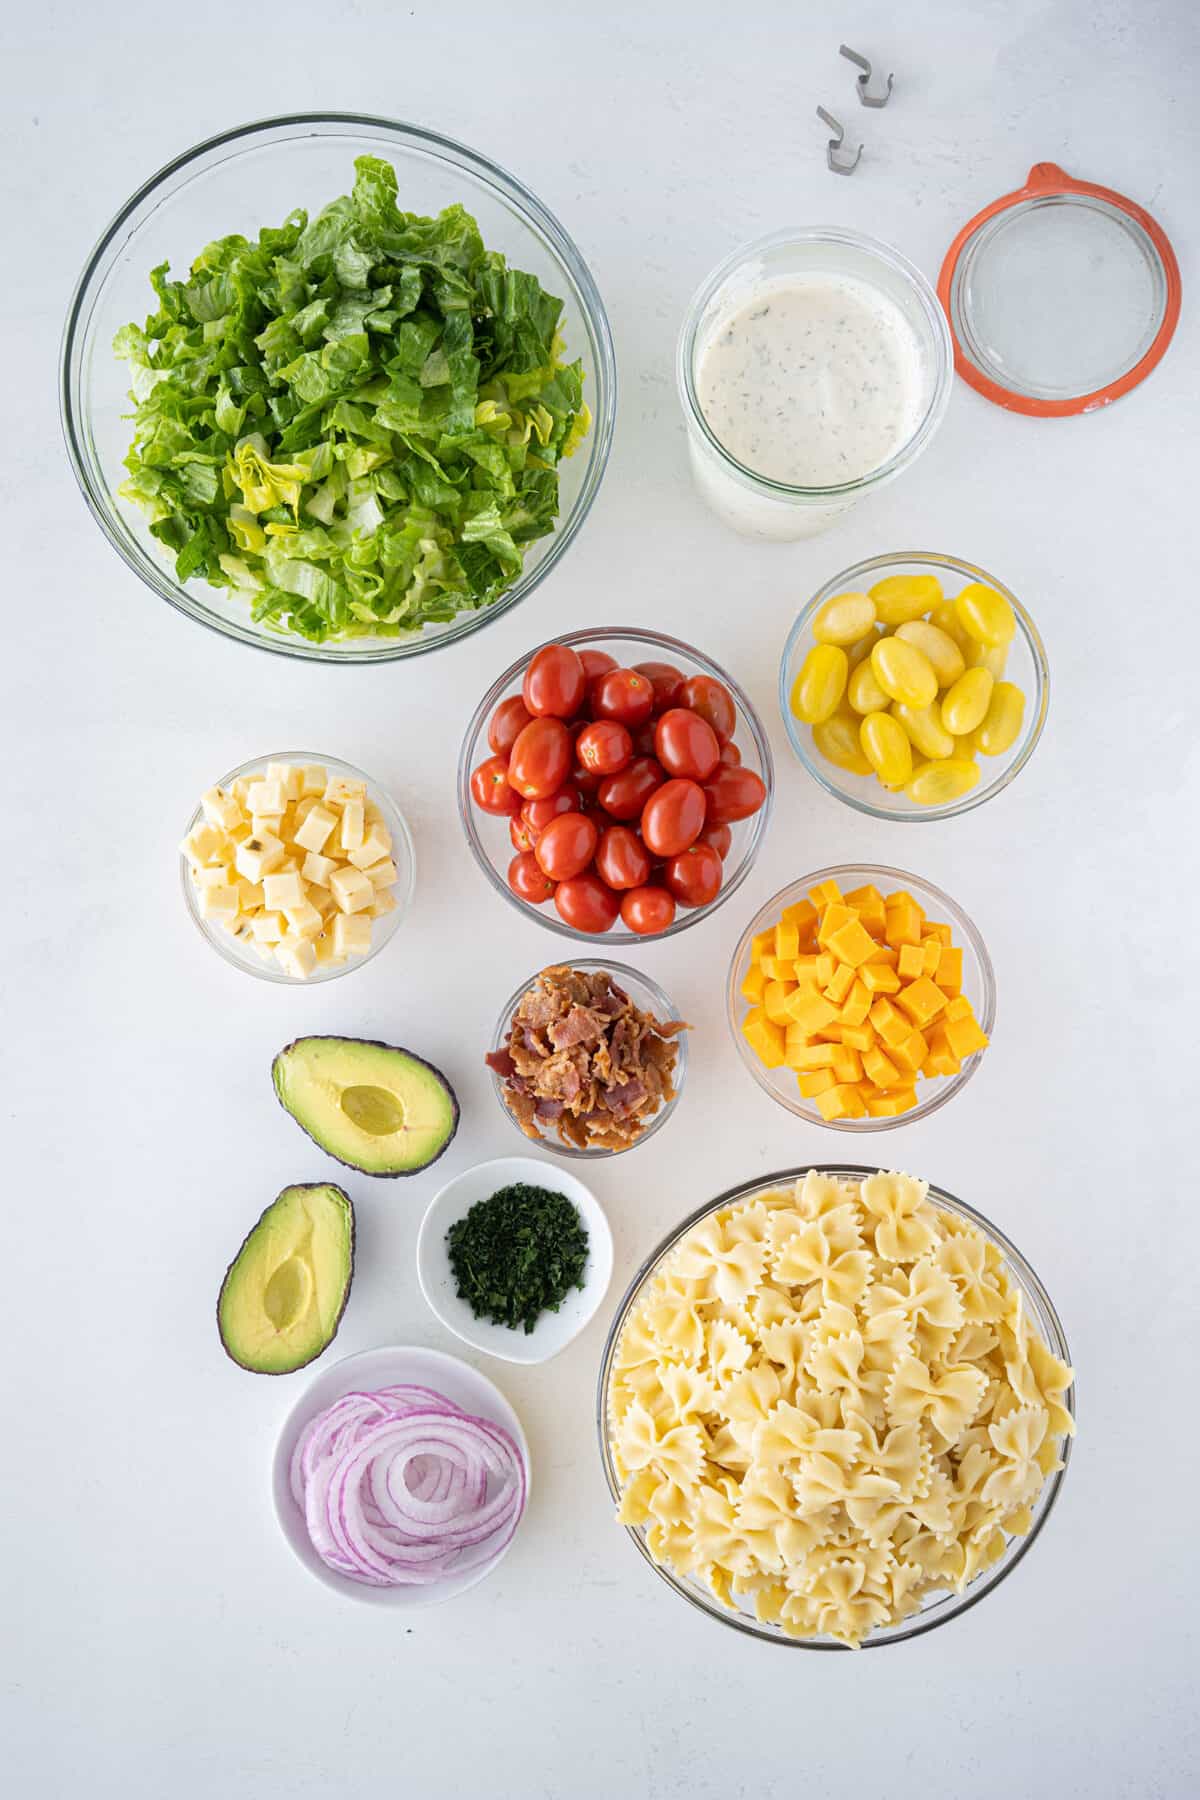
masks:
[[[696,925],[702,918],[716,913],[718,905],[723,905],[729,896],[741,887],[743,880],[750,873],[750,866],[754,864],[763,837],[766,835],[770,803],[775,787],[775,772],[766,733],[763,731],[750,700],[732,675],[727,675],[720,664],[711,662],[700,650],[693,650],[691,644],[680,643],[678,637],[666,637],[662,632],[640,632],[635,626],[603,625],[592,632],[563,632],[551,639],[551,643],[570,644],[574,650],[606,650],[608,655],[615,657],[622,668],[633,662],[667,661],[680,668],[684,675],[714,675],[718,680],[725,682],[732,695],[734,707],[738,709],[734,742],[741,751],[743,767],[752,769],[754,774],[761,778],[766,788],[766,799],[750,819],[741,819],[732,826],[732,844],[729,848],[729,855],[725,857],[725,880],[721,882],[716,900],[700,907],[680,907],[675,914],[675,922],[667,925],[666,931],[655,932],[651,938],[640,938],[635,931],[628,931],[619,922],[612,927],[612,931],[576,931],[558,916],[552,902],[547,905],[531,905],[525,900],[518,900],[507,884],[507,868],[515,855],[513,841],[509,837],[509,821],[480,812],[480,808],[471,801],[471,770],[491,756],[491,749],[488,745],[488,724],[491,715],[500,700],[511,693],[520,693],[525,670],[538,650],[543,648],[542,644],[534,644],[533,650],[525,652],[524,657],[513,662],[511,668],[507,668],[504,675],[491,684],[484,698],[475,707],[475,716],[466,727],[466,736],[462,738],[462,751],[459,754],[459,817],[462,819],[462,830],[466,832],[466,841],[471,846],[471,855],[497,893],[502,895],[509,905],[518,907],[525,918],[534,918],[540,925],[545,925],[549,931],[556,931],[561,938],[570,938],[576,943],[597,943],[604,947],[617,943],[662,943],[664,938],[673,938],[678,931],[687,931],[689,925]]]

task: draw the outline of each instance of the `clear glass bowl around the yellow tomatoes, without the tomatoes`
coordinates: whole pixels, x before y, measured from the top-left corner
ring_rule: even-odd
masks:
[[[945,806],[918,806],[903,790],[889,792],[874,776],[853,776],[837,763],[826,761],[813,743],[813,727],[799,720],[790,704],[792,684],[801,671],[804,657],[813,648],[813,617],[835,594],[865,592],[876,581],[892,574],[934,574],[943,583],[948,599],[966,587],[968,581],[982,581],[1004,594],[1016,617],[1016,635],[1009,646],[1004,680],[1016,682],[1025,695],[1025,715],[1013,745],[1002,756],[981,756],[981,779],[970,794],[948,801]],[[1033,756],[1045,713],[1051,702],[1051,670],[1045,661],[1045,644],[1036,625],[1016,599],[1016,594],[997,581],[986,569],[963,562],[959,556],[939,556],[934,551],[891,551],[887,556],[871,556],[867,562],[844,569],[831,581],[813,594],[795,625],[788,632],[779,662],[779,711],[783,713],[788,742],[815,781],[820,781],[828,794],[844,799],[856,812],[865,812],[873,819],[898,819],[901,824],[919,824],[927,819],[955,819],[973,806],[982,806],[986,799],[1002,794],[1009,781],[1015,781]]]

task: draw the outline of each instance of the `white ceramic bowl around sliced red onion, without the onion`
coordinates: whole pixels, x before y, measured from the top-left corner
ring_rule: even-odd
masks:
[[[335,1363],[331,1368],[326,1368],[320,1375],[317,1375],[284,1418],[282,1431],[279,1433],[275,1462],[272,1465],[272,1496],[275,1501],[279,1530],[284,1534],[309,1575],[315,1575],[326,1588],[333,1588],[335,1593],[347,1595],[351,1600],[365,1600],[369,1606],[390,1606],[401,1611],[416,1611],[417,1607],[435,1606],[439,1600],[450,1600],[455,1593],[466,1593],[466,1589],[480,1582],[484,1575],[491,1575],[497,1562],[504,1559],[513,1539],[504,1544],[491,1562],[482,1562],[479,1568],[466,1570],[466,1573],[457,1577],[446,1575],[444,1580],[435,1582],[430,1588],[369,1588],[365,1582],[351,1580],[347,1575],[338,1575],[336,1570],[331,1570],[320,1561],[313,1550],[304,1517],[291,1498],[291,1485],[288,1480],[295,1440],[309,1418],[317,1413],[324,1413],[327,1406],[333,1406],[333,1402],[340,1400],[345,1393],[367,1393],[374,1388],[390,1388],[398,1382],[435,1388],[437,1393],[444,1393],[448,1400],[453,1400],[455,1406],[461,1406],[464,1411],[473,1413],[479,1418],[488,1418],[497,1426],[504,1426],[516,1444],[525,1465],[525,1507],[529,1507],[529,1483],[533,1471],[529,1465],[529,1444],[525,1442],[520,1418],[500,1390],[493,1386],[486,1375],[480,1375],[479,1370],[461,1363],[455,1355],[446,1355],[444,1350],[425,1350],[421,1345],[362,1350],[358,1355],[347,1355],[342,1363]],[[516,1528],[520,1530],[520,1525]]]

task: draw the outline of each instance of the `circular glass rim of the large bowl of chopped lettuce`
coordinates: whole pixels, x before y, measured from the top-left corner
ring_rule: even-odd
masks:
[[[227,149],[230,155],[237,155],[243,148],[255,148],[255,140],[263,146],[272,142],[288,142],[291,137],[304,135],[304,128],[311,128],[309,135],[313,137],[336,135],[340,130],[354,128],[387,133],[392,140],[398,140],[398,148],[425,149],[443,162],[452,162],[468,169],[475,180],[493,189],[509,211],[516,211],[525,216],[525,221],[545,238],[554,256],[565,265],[579,293],[581,310],[585,313],[585,329],[592,338],[590,347],[596,356],[596,394],[592,396],[596,405],[592,407],[592,448],[587,475],[570,517],[556,524],[542,562],[534,569],[522,571],[516,581],[513,581],[513,585],[506,589],[491,607],[480,607],[459,614],[455,621],[437,637],[417,635],[412,639],[380,639],[380,648],[356,653],[338,650],[336,643],[309,644],[302,637],[291,639],[281,635],[279,641],[275,641],[273,637],[254,632],[248,625],[243,626],[234,619],[216,619],[200,601],[205,583],[198,583],[196,596],[193,596],[187,583],[175,580],[175,574],[166,560],[158,563],[144,553],[144,560],[139,562],[131,554],[128,542],[115,529],[110,518],[110,508],[115,504],[113,497],[110,497],[108,490],[92,477],[90,459],[86,454],[90,428],[76,371],[76,356],[83,353],[94,302],[99,297],[99,288],[94,292],[94,281],[101,275],[103,286],[103,281],[108,279],[110,252],[115,254],[122,229],[133,214],[137,214],[142,203],[155,196],[158,196],[155,202],[157,205],[166,203],[176,193],[178,185],[182,185],[176,182],[176,176],[184,176],[189,167],[203,162],[203,158],[216,151]],[[149,587],[160,599],[166,599],[167,605],[175,607],[176,612],[182,612],[185,617],[194,619],[207,630],[216,632],[218,637],[228,637],[234,643],[248,644],[254,650],[264,650],[268,655],[295,657],[300,662],[344,664],[351,668],[365,664],[374,668],[380,662],[398,662],[405,657],[426,655],[446,644],[457,643],[462,637],[470,637],[471,632],[482,630],[491,619],[509,612],[527,594],[533,594],[533,590],[567,553],[569,545],[574,542],[578,531],[592,511],[592,502],[596,500],[608,466],[615,416],[617,360],[608,326],[608,313],[604,311],[604,302],[599,295],[592,272],[558,218],[524,185],[524,182],[520,182],[498,162],[484,157],[480,151],[471,149],[468,144],[461,144],[457,139],[446,137],[441,131],[430,131],[425,126],[410,124],[403,119],[387,119],[381,113],[275,113],[268,119],[252,119],[246,124],[232,126],[228,131],[218,131],[214,137],[207,137],[200,144],[193,144],[189,149],[182,151],[178,157],[173,157],[160,169],[157,169],[155,175],[142,182],[142,185],[131,194],[130,200],[126,200],[92,247],[70,297],[59,349],[59,421],[67,441],[67,455],[88,511],[124,562],[126,569],[144,581],[146,587]],[[362,639],[354,641],[362,643]]]

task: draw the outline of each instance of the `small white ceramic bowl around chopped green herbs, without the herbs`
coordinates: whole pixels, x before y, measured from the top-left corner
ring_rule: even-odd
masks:
[[[516,1181],[533,1188],[549,1188],[552,1193],[565,1193],[578,1208],[588,1235],[583,1287],[572,1287],[558,1312],[543,1312],[531,1332],[495,1325],[491,1319],[477,1319],[466,1300],[459,1298],[446,1251],[450,1226],[462,1219],[477,1201],[486,1201],[498,1188],[509,1188]],[[466,1168],[453,1181],[448,1181],[441,1193],[434,1195],[417,1235],[417,1280],[432,1310],[446,1330],[461,1337],[462,1343],[473,1345],[475,1350],[486,1350],[488,1355],[498,1355],[504,1363],[549,1363],[596,1318],[599,1303],[608,1292],[612,1231],[599,1201],[578,1175],[534,1156],[502,1156],[495,1163],[477,1163],[475,1168]]]

